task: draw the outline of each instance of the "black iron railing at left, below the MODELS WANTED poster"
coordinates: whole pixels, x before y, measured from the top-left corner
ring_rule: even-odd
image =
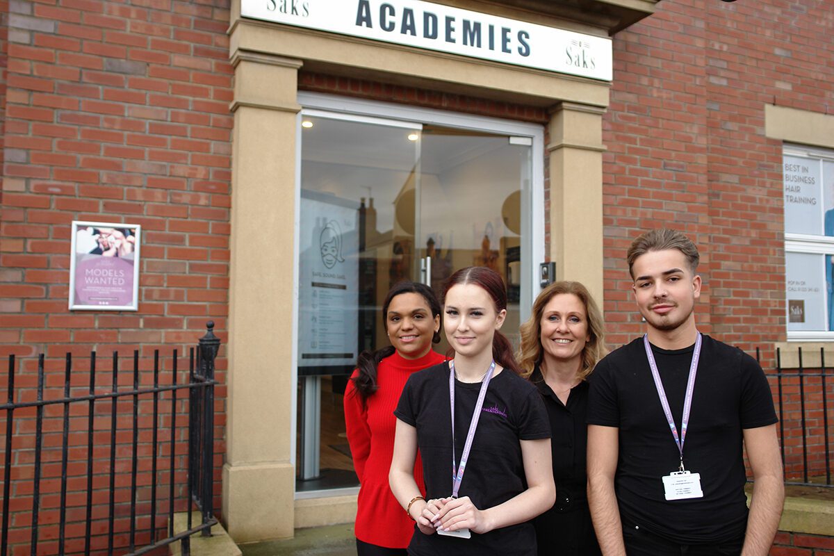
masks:
[[[134,351],[132,388],[122,389],[119,388],[119,376],[123,375],[124,371],[119,370],[117,352],[113,352],[110,369],[112,378],[109,384],[103,387],[97,386],[96,383],[97,375],[103,373],[97,373],[95,352],[90,353],[89,357],[88,386],[84,384],[80,387],[78,380],[73,381],[73,376],[85,373],[86,369],[73,369],[73,357],[67,353],[63,371],[63,397],[44,399],[44,393],[48,391],[47,380],[53,377],[53,373],[45,372],[43,354],[38,356],[34,396],[28,391],[30,388],[25,388],[33,382],[31,373],[23,371],[23,362],[16,362],[13,355],[9,356],[8,401],[0,405],[0,410],[4,410],[0,416],[4,414],[6,420],[3,457],[3,536],[0,538],[0,556],[7,556],[11,548],[26,544],[21,533],[25,532],[27,526],[31,529],[28,534],[28,553],[31,554],[38,553],[39,542],[41,553],[106,551],[108,554],[122,553],[133,556],[149,553],[179,541],[182,553],[188,555],[189,538],[192,534],[210,534],[211,527],[217,523],[212,508],[216,384],[214,358],[217,356],[220,343],[214,336],[213,328],[214,323],[209,322],[208,332],[199,339],[196,349],[190,349],[188,379],[183,383],[178,382],[177,350],[173,350],[170,367],[166,372],[161,368],[159,351],[155,350],[153,370],[150,373],[140,372],[139,352]],[[16,375],[21,380],[25,379],[27,384],[24,388],[16,390]],[[146,386],[144,383],[152,383],[153,386]],[[86,393],[79,393],[84,390]],[[188,391],[187,398],[181,393],[183,390]],[[27,399],[32,397],[34,399]],[[187,427],[183,418],[186,399]],[[107,403],[108,400],[110,403]],[[121,410],[119,402],[122,402]],[[132,412],[125,410],[125,402],[132,405]],[[146,407],[148,402],[151,406],[150,411],[147,411]],[[61,406],[63,413],[57,411]],[[29,414],[32,409],[33,433],[30,432],[32,416]],[[20,413],[24,412],[27,414],[20,417]],[[149,425],[148,413],[151,416]],[[129,418],[131,423],[129,438],[125,434],[127,427],[119,427],[119,423],[124,424],[125,418]],[[140,422],[145,423],[141,430]],[[44,433],[45,424],[48,425],[48,434]],[[21,428],[22,430],[18,430]],[[82,442],[78,435],[83,435],[85,429],[86,442]],[[168,437],[163,441],[159,439],[160,429]],[[44,446],[45,438],[54,437],[54,431],[57,430],[61,431],[59,456],[54,438],[49,438],[49,445]],[[182,438],[186,430],[188,438]],[[105,443],[102,440],[103,434],[107,431],[109,442]],[[143,438],[141,443],[140,438]],[[178,444],[183,442],[188,443],[187,465],[178,464],[178,458],[183,458],[183,450],[180,449],[178,453],[177,448]],[[108,444],[109,449],[107,456],[102,458],[100,456],[105,444]],[[83,454],[83,457],[79,457],[80,454]],[[44,460],[44,455],[48,461]],[[119,480],[123,479],[125,460],[128,458],[129,487],[124,484],[127,481]],[[30,459],[31,464],[28,463]],[[41,512],[48,505],[45,501],[51,493],[42,493],[42,486],[47,480],[54,486],[55,480],[52,474],[43,477],[43,471],[47,465],[53,465],[55,459],[60,460],[58,503],[53,503],[47,508],[50,515],[48,519],[43,519]],[[167,463],[168,468],[161,473],[158,468],[160,462]],[[79,471],[79,466],[82,465],[83,473]],[[73,468],[73,472],[69,471],[70,467]],[[183,468],[187,468],[184,478],[181,471]],[[53,471],[50,470],[49,473]],[[105,476],[106,488],[102,488]],[[75,503],[68,504],[70,483],[73,484],[72,494]],[[160,497],[158,485],[164,486],[165,483],[168,492]],[[13,487],[17,492],[13,492]],[[11,507],[13,500],[20,500],[21,493],[24,494],[25,500],[30,492],[30,508],[21,508],[19,503],[15,508]],[[127,511],[123,500],[125,492],[129,492]],[[103,493],[107,493],[106,503],[103,502]],[[78,503],[79,496],[85,498],[83,504]],[[191,520],[192,502],[202,515],[201,523],[196,525],[193,525]],[[102,518],[104,505],[107,508],[106,532]],[[158,523],[164,516],[164,513],[158,515],[159,508],[167,512],[167,527]],[[181,533],[174,532],[175,510],[188,511],[187,530]],[[72,513],[71,516],[68,515],[69,512]],[[126,513],[129,513],[127,526],[123,523],[123,518],[127,517]],[[56,522],[57,540],[54,534],[56,532],[53,530]],[[140,523],[147,523],[147,526],[140,527]],[[68,535],[70,527],[74,533]],[[44,533],[44,529],[49,530]],[[16,534],[10,538],[10,533]]]

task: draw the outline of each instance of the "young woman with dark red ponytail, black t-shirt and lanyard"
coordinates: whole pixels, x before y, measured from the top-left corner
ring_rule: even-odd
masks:
[[[535,556],[530,519],[555,500],[550,423],[499,332],[506,307],[495,271],[453,274],[444,331],[455,358],[409,377],[394,411],[389,483],[416,522],[412,556]],[[426,499],[414,481],[418,449]]]

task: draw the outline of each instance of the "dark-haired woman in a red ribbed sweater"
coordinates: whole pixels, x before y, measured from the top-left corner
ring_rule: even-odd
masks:
[[[359,477],[359,503],[354,533],[359,556],[405,556],[414,521],[399,506],[388,485],[394,453],[394,408],[405,381],[445,358],[431,349],[440,342],[440,303],[422,283],[400,282],[382,306],[391,345],[363,352],[344,392],[344,422],[350,453]],[[423,486],[420,458],[414,480]]]

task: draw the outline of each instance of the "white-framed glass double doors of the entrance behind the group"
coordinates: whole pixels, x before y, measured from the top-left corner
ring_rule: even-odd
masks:
[[[311,496],[358,484],[342,394],[357,354],[387,343],[391,286],[419,281],[440,297],[455,270],[492,268],[517,341],[544,253],[543,147],[540,126],[525,123],[299,100],[296,491]]]

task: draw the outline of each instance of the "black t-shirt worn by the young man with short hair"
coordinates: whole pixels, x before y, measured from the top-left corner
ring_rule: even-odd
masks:
[[[694,345],[652,350],[680,433]],[[771,389],[756,360],[703,336],[683,456],[687,470],[701,473],[704,496],[666,500],[661,478],[677,470],[681,455],[643,339],[610,353],[590,378],[588,423],[620,429],[615,488],[624,526],[646,528],[678,543],[719,543],[744,536],[742,429],[776,420]]]

